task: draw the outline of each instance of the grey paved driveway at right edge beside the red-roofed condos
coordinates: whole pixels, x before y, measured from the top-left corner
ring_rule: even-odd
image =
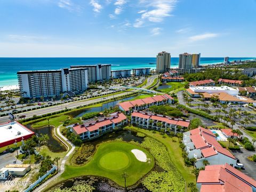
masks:
[[[251,162],[247,159],[248,156],[254,155],[255,151],[248,151],[246,149],[241,149],[240,151],[231,151],[231,153],[240,160],[242,164],[244,164],[244,170],[241,170],[243,173],[248,175],[249,177],[256,180],[256,162]]]

